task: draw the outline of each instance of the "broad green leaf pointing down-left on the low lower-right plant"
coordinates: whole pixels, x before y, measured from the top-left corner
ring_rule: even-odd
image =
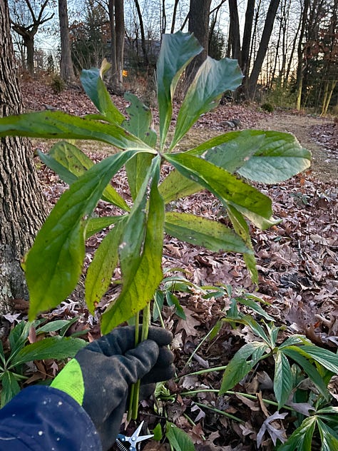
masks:
[[[220,387],[220,395],[224,395],[227,390],[235,387],[247,373],[250,373],[268,349],[265,343],[257,341],[242,346],[227,364],[227,368],[225,368],[222,386]],[[255,355],[254,358],[252,358],[253,355]],[[250,357],[251,359],[248,360]]]

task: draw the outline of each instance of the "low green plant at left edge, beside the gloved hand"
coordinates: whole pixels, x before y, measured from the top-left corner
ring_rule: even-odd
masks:
[[[34,360],[72,358],[78,350],[86,346],[86,341],[80,338],[64,337],[72,320],[56,320],[45,325],[43,320],[34,322],[21,321],[11,329],[8,346],[4,348],[0,341],[0,381],[1,407],[9,402],[21,390],[20,383],[27,380],[25,364]],[[29,334],[39,335],[56,333],[53,337],[46,337],[29,342]]]

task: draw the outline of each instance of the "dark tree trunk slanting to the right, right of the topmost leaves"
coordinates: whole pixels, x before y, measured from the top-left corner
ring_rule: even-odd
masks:
[[[265,19],[264,29],[262,32],[262,38],[260,39],[260,46],[257,51],[257,56],[255,63],[252,67],[252,71],[249,78],[248,88],[249,95],[251,98],[255,96],[256,86],[258,76],[262,70],[262,64],[267,53],[267,46],[269,45],[270,36],[272,33],[273,24],[277,14],[278,6],[280,5],[280,0],[271,0],[269,9],[267,10],[267,17]]]

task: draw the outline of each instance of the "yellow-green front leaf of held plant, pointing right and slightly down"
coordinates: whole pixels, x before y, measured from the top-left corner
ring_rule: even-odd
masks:
[[[212,163],[187,153],[164,154],[164,158],[180,173],[200,183],[225,205],[232,205],[258,227],[272,216],[271,200],[247,183]],[[262,221],[259,219],[262,218]]]

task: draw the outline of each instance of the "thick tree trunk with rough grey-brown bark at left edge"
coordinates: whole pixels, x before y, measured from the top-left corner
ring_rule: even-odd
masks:
[[[0,0],[0,116],[23,111],[6,0]],[[0,138],[0,313],[28,298],[20,261],[46,216],[29,140]],[[39,268],[36,268],[39,271]]]

